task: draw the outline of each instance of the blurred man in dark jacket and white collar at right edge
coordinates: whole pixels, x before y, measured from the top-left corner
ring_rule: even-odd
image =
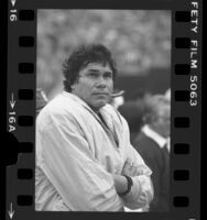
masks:
[[[133,146],[152,169],[154,199],[150,205],[150,211],[168,210],[170,114],[170,100],[164,96],[153,96],[148,102],[145,125],[133,142]]]

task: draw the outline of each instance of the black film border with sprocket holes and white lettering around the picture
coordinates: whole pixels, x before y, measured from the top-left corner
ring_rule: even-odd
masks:
[[[172,11],[172,152],[170,211],[164,213],[105,213],[102,217],[139,219],[200,218],[200,139],[201,139],[201,1],[146,1],[134,4],[108,1],[11,0],[8,7],[8,91],[7,130],[14,157],[7,167],[6,219],[85,218],[84,213],[37,212],[35,190],[35,89],[36,20],[39,9],[141,8]],[[77,216],[75,216],[77,215]],[[89,213],[88,213],[89,215]],[[91,218],[99,217],[92,216]],[[128,216],[127,216],[128,215]],[[137,216],[138,215],[138,216]]]

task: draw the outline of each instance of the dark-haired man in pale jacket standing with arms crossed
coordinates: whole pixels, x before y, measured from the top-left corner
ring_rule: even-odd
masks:
[[[65,91],[36,121],[36,210],[123,211],[152,200],[151,170],[108,105],[116,74],[102,45],[81,46],[66,61]]]

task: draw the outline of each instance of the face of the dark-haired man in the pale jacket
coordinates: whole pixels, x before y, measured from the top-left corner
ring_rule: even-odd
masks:
[[[72,92],[98,111],[110,100],[113,91],[112,77],[108,64],[89,63],[80,69],[78,80],[72,86]]]

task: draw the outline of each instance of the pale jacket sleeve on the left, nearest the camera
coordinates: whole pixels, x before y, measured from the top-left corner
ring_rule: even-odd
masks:
[[[72,211],[119,211],[123,204],[112,176],[91,155],[73,116],[53,116],[45,127],[39,123],[41,168],[66,206]]]

